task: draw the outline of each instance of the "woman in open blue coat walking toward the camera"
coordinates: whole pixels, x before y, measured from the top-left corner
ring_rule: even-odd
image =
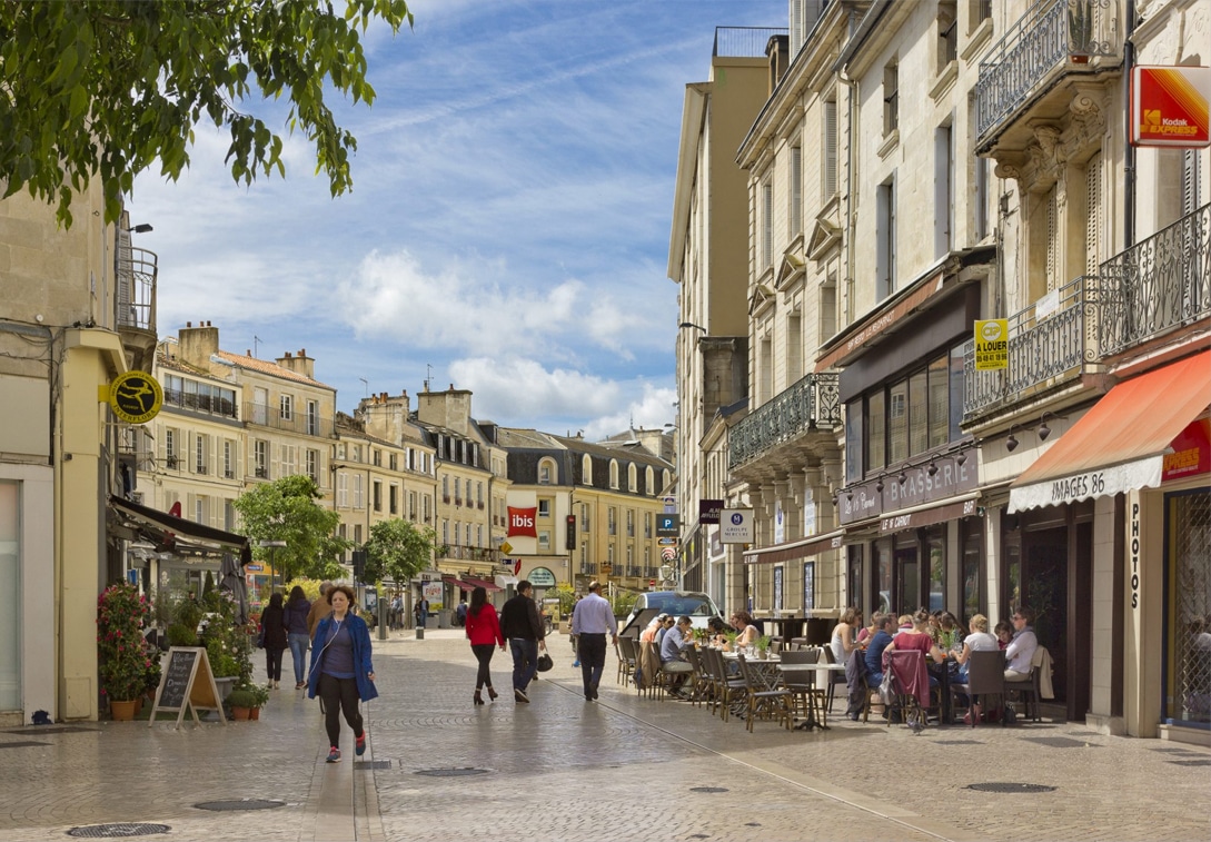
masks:
[[[378,697],[374,665],[371,661],[371,631],[354,611],[354,589],[333,585],[328,590],[332,613],[320,620],[311,647],[308,698],[323,703],[323,726],[328,732],[328,762],[340,762],[340,715],[354,729],[354,754],[366,754],[366,728],[357,710],[358,699]]]

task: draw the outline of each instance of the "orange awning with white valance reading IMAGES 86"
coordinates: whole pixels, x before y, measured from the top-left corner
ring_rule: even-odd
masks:
[[[1165,449],[1209,405],[1211,351],[1118,384],[1014,481],[1009,511],[1155,488]]]

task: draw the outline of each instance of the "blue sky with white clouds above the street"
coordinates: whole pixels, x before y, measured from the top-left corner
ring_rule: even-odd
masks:
[[[673,422],[685,85],[707,79],[716,27],[785,27],[786,0],[409,7],[411,30],[363,39],[374,104],[329,102],[357,138],[351,193],[331,196],[259,99],[241,108],[286,139],[285,179],[237,185],[207,126],[179,181],[136,179],[160,336],[210,321],[236,354],[305,348],[345,412],[427,379],[505,426],[599,440]]]

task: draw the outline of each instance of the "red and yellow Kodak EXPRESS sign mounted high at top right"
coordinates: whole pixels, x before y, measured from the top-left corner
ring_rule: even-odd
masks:
[[[1211,68],[1137,67],[1131,70],[1131,144],[1211,145],[1207,101]]]

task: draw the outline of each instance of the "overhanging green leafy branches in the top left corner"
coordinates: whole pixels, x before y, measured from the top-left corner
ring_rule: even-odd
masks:
[[[230,132],[225,162],[248,184],[286,174],[282,138],[247,114],[286,99],[285,128],[315,145],[332,195],[352,185],[356,138],[326,102],[339,92],[374,102],[361,35],[381,19],[412,25],[404,0],[5,0],[0,2],[0,183],[69,204],[99,177],[116,222],[134,176],[160,162],[176,181],[194,127]]]

